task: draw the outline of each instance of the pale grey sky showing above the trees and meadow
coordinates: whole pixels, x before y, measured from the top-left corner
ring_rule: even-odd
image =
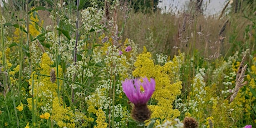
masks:
[[[185,3],[189,2],[189,0],[161,0],[161,1],[163,2],[159,3],[160,8],[166,7],[166,9],[168,9],[169,7],[171,7],[171,9],[173,10],[175,9],[175,7],[177,7],[177,9],[179,10],[183,10]],[[227,2],[228,0],[204,0],[203,3],[206,5],[205,14],[220,13]]]

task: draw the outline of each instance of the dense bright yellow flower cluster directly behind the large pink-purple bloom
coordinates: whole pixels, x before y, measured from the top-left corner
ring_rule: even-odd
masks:
[[[183,58],[183,55],[180,55],[180,58]],[[134,63],[136,69],[132,72],[133,76],[155,79],[156,88],[152,95],[155,105],[149,105],[149,109],[152,111],[151,118],[157,118],[156,122],[174,120],[180,116],[179,110],[173,109],[173,102],[176,96],[180,95],[182,88],[182,82],[174,79],[174,75],[179,71],[178,60],[175,56],[173,61],[165,63],[164,66],[154,65],[151,53],[144,52],[137,56]]]

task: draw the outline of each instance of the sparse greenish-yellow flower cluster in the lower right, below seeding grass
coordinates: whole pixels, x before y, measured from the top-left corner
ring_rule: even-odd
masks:
[[[224,64],[227,64],[227,62],[222,62],[220,63],[220,65],[221,64],[224,65]],[[236,60],[232,60],[232,63],[229,63],[229,64],[230,64],[230,67],[227,66],[226,68],[223,68],[223,72],[225,72],[226,75],[236,73],[238,71],[240,62],[237,62]],[[223,82],[223,78],[220,77],[219,81]],[[224,89],[227,90],[227,88],[230,88],[230,91],[232,91],[231,89],[235,87],[235,77],[229,76],[227,81],[228,82],[232,81],[232,86],[225,86]],[[206,86],[205,88],[208,88],[208,86]],[[232,93],[228,93],[227,97],[223,96],[225,94],[222,94],[222,97],[220,97],[216,95],[219,92],[213,92],[214,90],[219,90],[218,88],[216,88],[215,83],[211,86],[210,90],[209,89],[205,89],[205,90],[207,93],[205,97],[205,102],[207,102],[208,105],[212,105],[211,109],[207,109],[207,112],[205,112],[205,116],[211,115],[211,117],[214,118],[214,126],[216,127],[237,126],[238,121],[250,120],[249,119],[250,116],[245,117],[246,119],[244,119],[244,117],[241,116],[241,112],[246,111],[245,107],[247,106],[247,102],[248,104],[250,104],[249,101],[245,102],[246,99],[245,99],[243,87],[240,88],[233,102],[229,101],[230,95],[232,95]],[[245,93],[247,92],[245,91]],[[211,98],[208,96],[210,96]],[[204,106],[203,108],[207,108],[207,106]],[[208,119],[205,121],[207,125],[209,123]]]

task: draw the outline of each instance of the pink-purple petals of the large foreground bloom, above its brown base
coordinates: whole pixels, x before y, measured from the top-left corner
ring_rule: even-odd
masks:
[[[143,91],[141,87],[143,87]],[[135,106],[146,105],[152,93],[155,91],[155,80],[150,78],[149,81],[147,77],[142,78],[142,81],[140,78],[135,78],[134,80],[126,79],[122,82],[122,88],[125,95]]]

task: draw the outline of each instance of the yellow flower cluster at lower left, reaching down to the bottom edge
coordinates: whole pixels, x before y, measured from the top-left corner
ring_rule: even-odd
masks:
[[[56,67],[51,67],[52,65],[53,61],[51,61],[51,58],[47,55],[47,53],[43,53],[40,68],[38,68],[40,74],[50,75],[52,70],[56,71]],[[61,66],[58,67],[58,70],[58,76],[62,77]],[[29,79],[29,85],[31,85],[31,90],[29,92],[32,94],[33,89],[33,96],[35,97],[34,102],[37,104],[36,110],[48,111],[51,113],[50,115],[50,113],[45,112],[44,114],[40,115],[41,119],[48,120],[51,117],[51,119],[55,121],[59,127],[87,127],[90,122],[94,121],[93,118],[87,117],[83,112],[78,110],[74,111],[71,109],[71,107],[63,107],[63,100],[59,99],[57,95],[57,82],[52,83],[50,77],[34,75],[33,78],[32,76],[31,79]],[[62,87],[61,85],[62,81],[60,81],[60,90]],[[32,110],[32,99],[27,99],[27,102],[29,110]],[[48,109],[49,107],[51,109]]]

